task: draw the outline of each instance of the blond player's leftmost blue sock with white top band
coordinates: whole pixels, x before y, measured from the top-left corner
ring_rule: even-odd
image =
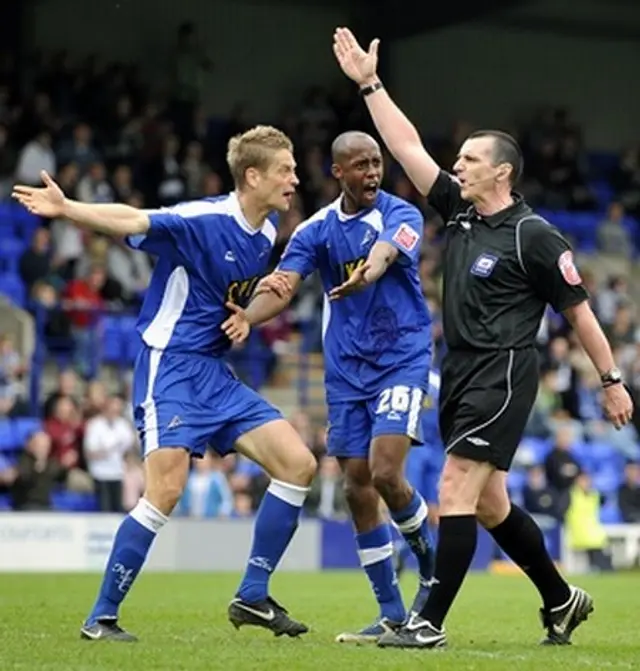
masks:
[[[140,499],[125,517],[113,541],[100,593],[87,624],[117,619],[120,603],[140,573],[156,533],[167,520],[166,515],[145,499]]]

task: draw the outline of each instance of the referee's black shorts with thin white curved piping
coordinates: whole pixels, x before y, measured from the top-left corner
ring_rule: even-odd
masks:
[[[452,350],[441,373],[440,433],[447,454],[508,471],[538,392],[537,352]]]

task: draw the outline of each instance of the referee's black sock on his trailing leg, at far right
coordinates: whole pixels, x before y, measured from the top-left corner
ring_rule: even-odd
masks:
[[[545,608],[555,608],[571,596],[544,544],[540,527],[531,515],[511,504],[507,518],[488,530],[496,543],[529,576],[537,587]]]

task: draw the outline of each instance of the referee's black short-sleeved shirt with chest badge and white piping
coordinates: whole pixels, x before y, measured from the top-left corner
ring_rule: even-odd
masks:
[[[450,350],[534,347],[547,304],[561,312],[588,299],[567,240],[520,195],[513,198],[483,217],[446,172],[429,193],[447,222],[443,327]]]

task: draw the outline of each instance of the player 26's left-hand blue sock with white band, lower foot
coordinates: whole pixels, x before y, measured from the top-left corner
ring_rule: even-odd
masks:
[[[404,603],[393,567],[393,543],[387,524],[356,534],[360,564],[365,570],[373,593],[380,604],[380,615],[393,622],[405,619]]]

